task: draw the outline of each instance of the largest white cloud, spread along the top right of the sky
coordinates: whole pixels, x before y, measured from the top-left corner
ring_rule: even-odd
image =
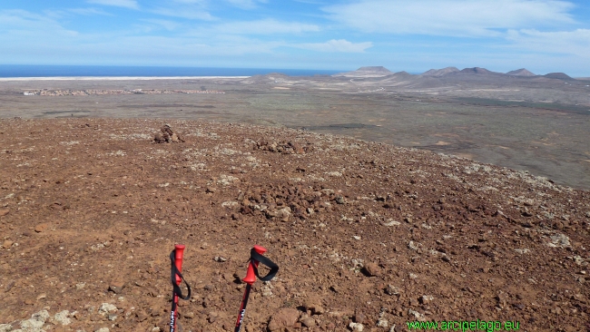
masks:
[[[561,0],[362,0],[323,10],[368,33],[496,36],[506,29],[574,24],[568,14],[573,8]]]

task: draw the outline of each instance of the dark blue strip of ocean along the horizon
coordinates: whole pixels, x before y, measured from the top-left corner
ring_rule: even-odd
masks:
[[[331,75],[342,71],[268,68],[151,67],[103,65],[0,64],[0,77],[79,77],[79,76],[253,76],[284,73],[290,76]]]

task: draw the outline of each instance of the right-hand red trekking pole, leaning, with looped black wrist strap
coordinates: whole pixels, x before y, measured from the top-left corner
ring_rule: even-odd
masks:
[[[246,283],[246,289],[244,290],[244,297],[241,299],[241,307],[240,311],[238,312],[238,319],[236,320],[236,328],[234,332],[240,332],[241,322],[244,319],[244,315],[246,313],[246,305],[248,305],[248,297],[250,297],[250,291],[252,288],[252,284],[256,281],[258,277],[262,281],[269,281],[270,279],[274,278],[274,276],[279,271],[279,266],[273,263],[270,259],[262,256],[266,252],[266,249],[261,246],[254,246],[250,250],[250,263],[248,264],[248,271],[246,272],[246,278],[241,279],[243,282]],[[270,268],[269,274],[264,277],[261,277],[258,274],[258,264],[262,263]]]

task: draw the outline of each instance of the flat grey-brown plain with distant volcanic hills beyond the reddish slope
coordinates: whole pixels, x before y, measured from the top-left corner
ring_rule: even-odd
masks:
[[[277,73],[248,78],[5,80],[0,81],[0,115],[202,119],[305,128],[455,154],[588,190],[590,81],[547,76],[480,68],[410,75],[370,67],[331,77]],[[24,94],[44,89],[74,93]],[[135,92],[72,95],[92,89]],[[153,94],[138,89],[223,93]]]

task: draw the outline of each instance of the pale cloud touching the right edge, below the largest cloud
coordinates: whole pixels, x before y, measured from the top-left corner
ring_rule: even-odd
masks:
[[[573,54],[590,59],[590,29],[558,32],[510,30],[507,39],[518,48],[542,54]]]

